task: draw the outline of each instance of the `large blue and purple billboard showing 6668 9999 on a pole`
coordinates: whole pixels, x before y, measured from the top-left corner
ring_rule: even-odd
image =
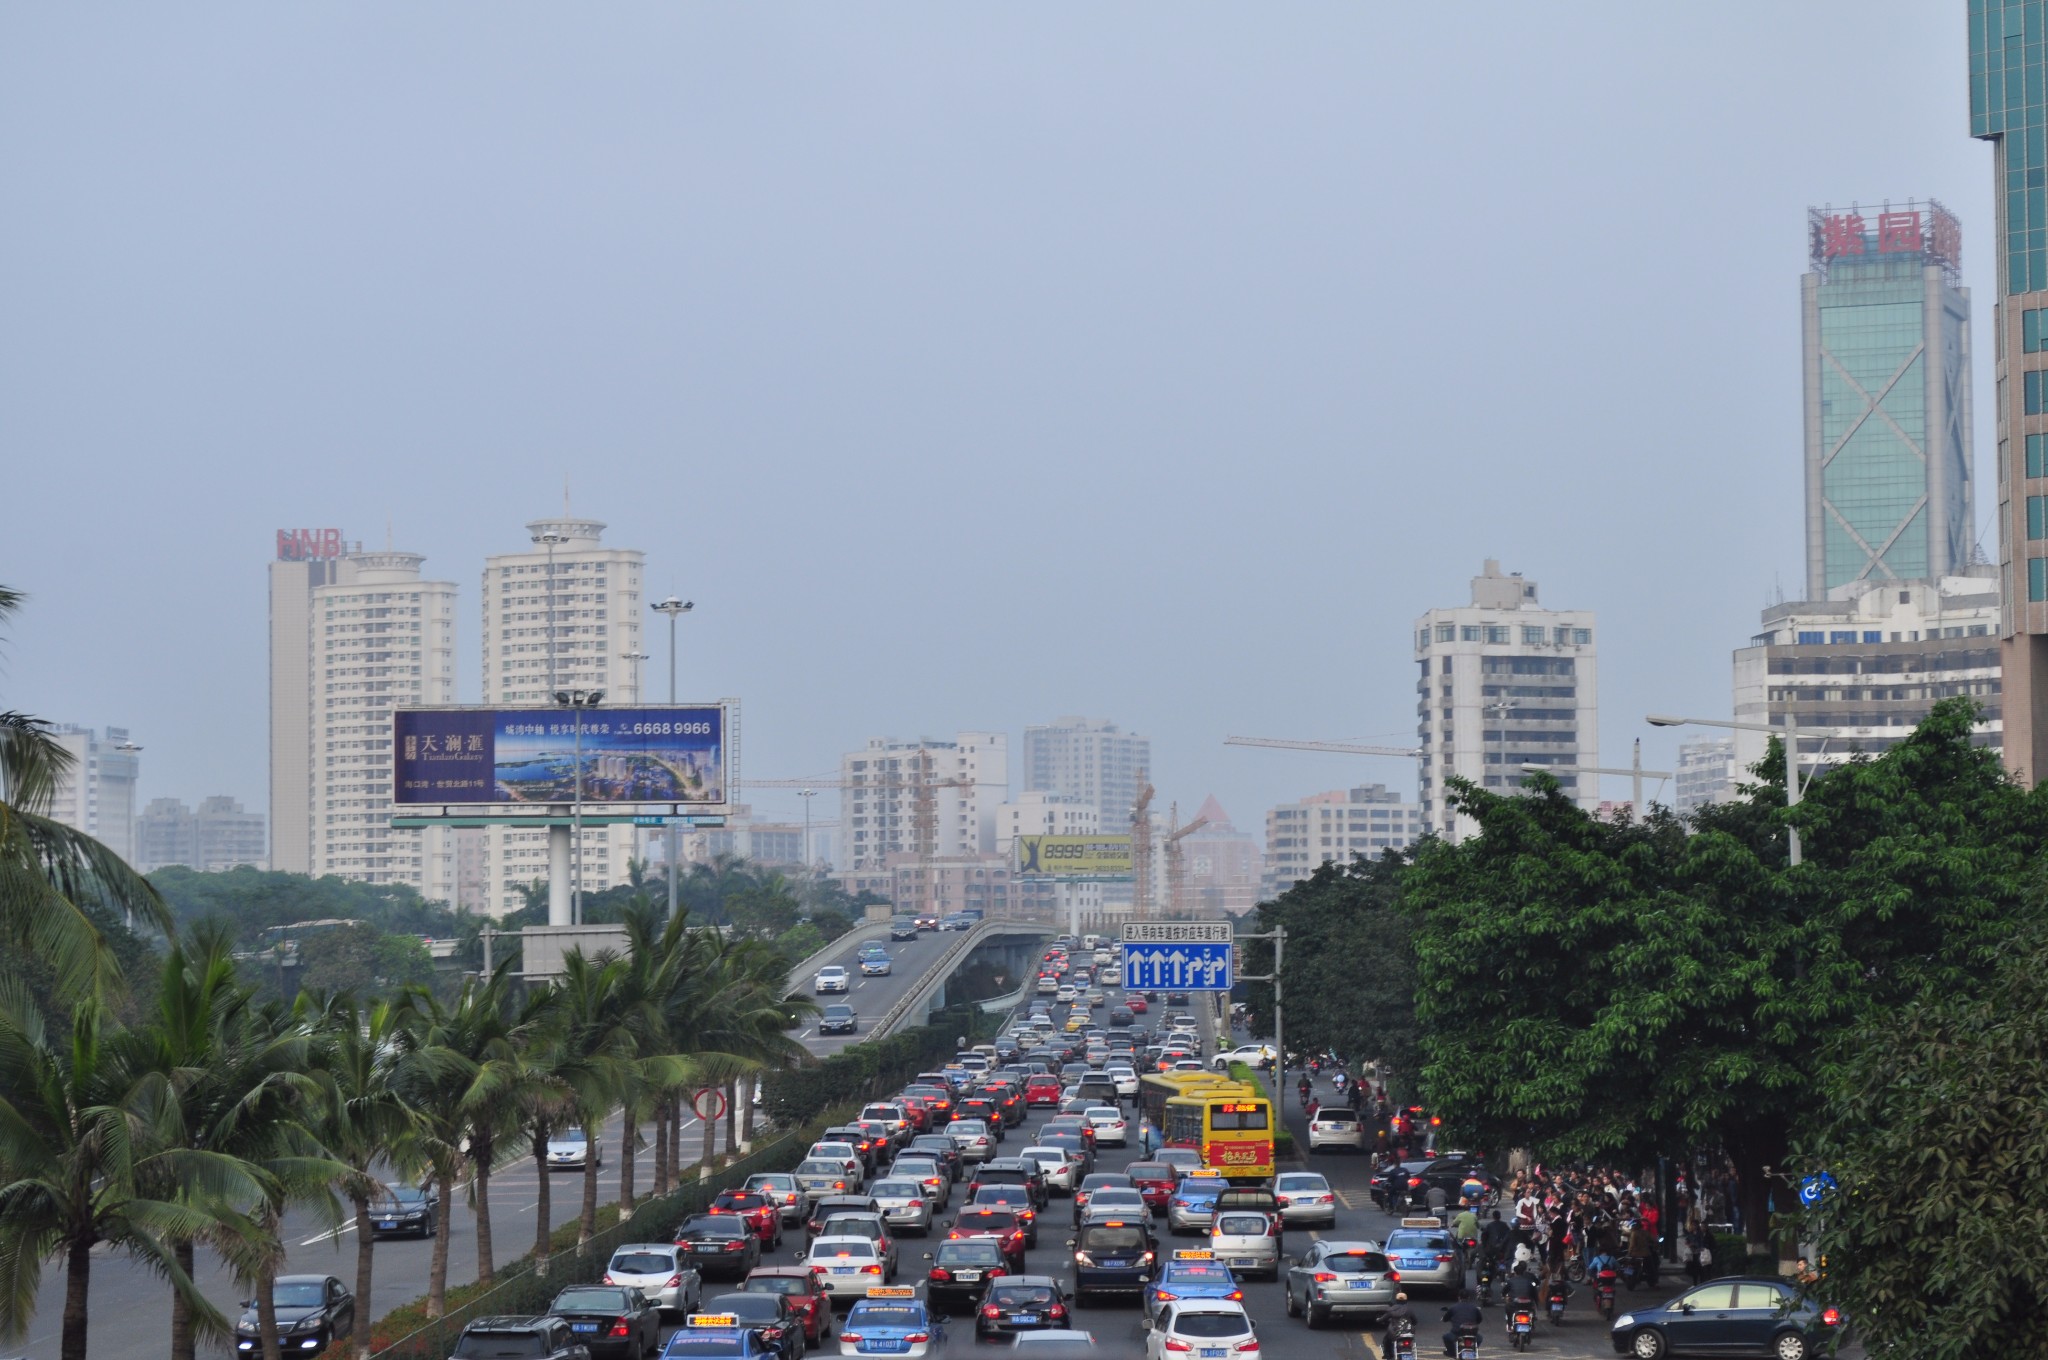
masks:
[[[578,713],[582,772],[578,774]],[[393,803],[727,801],[725,705],[399,709]]]

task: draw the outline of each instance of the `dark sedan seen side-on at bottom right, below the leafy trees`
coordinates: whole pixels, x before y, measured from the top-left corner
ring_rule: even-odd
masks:
[[[1688,1288],[1677,1299],[1628,1309],[1614,1319],[1614,1350],[1638,1360],[1659,1356],[1772,1356],[1804,1360],[1839,1335],[1839,1309],[1825,1307],[1790,1280],[1729,1276]]]

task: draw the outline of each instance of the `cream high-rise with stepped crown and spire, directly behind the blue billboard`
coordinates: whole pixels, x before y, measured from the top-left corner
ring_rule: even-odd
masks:
[[[483,703],[553,705],[563,688],[604,690],[606,705],[641,703],[647,555],[604,547],[600,520],[526,524],[528,547],[483,559]],[[633,827],[584,827],[582,887],[627,881]],[[485,899],[494,916],[516,911],[520,885],[547,881],[547,832],[492,827]]]

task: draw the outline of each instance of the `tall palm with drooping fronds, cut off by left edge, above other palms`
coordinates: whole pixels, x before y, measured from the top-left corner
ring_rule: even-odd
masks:
[[[0,623],[20,602],[18,590],[0,586]],[[70,768],[49,723],[0,711],[0,944],[43,959],[66,995],[96,995],[119,985],[121,969],[86,903],[164,932],[170,909],[121,856],[45,815]]]

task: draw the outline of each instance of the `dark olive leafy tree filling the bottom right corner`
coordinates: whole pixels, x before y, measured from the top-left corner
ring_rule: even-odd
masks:
[[[1837,1182],[1808,1215],[1827,1299],[1870,1354],[2048,1354],[2048,932],[1985,995],[1886,1012],[1833,1057],[1796,1157]]]

